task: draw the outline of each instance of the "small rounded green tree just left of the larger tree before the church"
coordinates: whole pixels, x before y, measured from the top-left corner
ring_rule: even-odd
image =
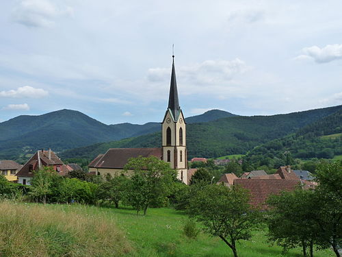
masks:
[[[127,187],[127,177],[118,175],[111,178],[111,175],[106,176],[106,181],[98,186],[96,195],[98,199],[114,202],[115,208],[119,208],[119,201],[124,195]]]

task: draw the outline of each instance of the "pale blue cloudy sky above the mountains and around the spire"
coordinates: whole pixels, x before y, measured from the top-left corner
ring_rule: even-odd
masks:
[[[161,121],[172,44],[185,117],[342,104],[342,1],[0,3],[0,122],[79,110]]]

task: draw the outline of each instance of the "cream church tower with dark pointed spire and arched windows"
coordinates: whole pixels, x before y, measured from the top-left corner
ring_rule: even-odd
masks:
[[[176,169],[177,178],[187,184],[187,147],[185,119],[179,106],[174,56],[168,110],[162,124],[163,160]]]

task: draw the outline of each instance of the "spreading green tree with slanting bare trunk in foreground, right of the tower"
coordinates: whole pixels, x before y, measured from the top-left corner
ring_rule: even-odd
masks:
[[[206,232],[219,236],[237,257],[237,241],[250,239],[259,224],[260,212],[253,210],[248,200],[243,188],[207,185],[190,199],[189,215],[200,221]]]

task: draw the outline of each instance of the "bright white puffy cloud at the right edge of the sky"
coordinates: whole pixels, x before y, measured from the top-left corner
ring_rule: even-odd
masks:
[[[324,63],[333,60],[342,59],[342,44],[326,45],[323,48],[317,46],[305,47],[302,49],[302,55],[297,56],[296,60],[312,58],[315,62]]]

